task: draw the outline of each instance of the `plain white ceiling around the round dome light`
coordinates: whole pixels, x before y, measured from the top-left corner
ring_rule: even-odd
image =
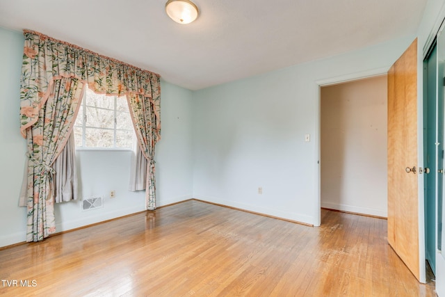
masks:
[[[416,33],[427,0],[0,0],[0,26],[39,31],[191,90]]]

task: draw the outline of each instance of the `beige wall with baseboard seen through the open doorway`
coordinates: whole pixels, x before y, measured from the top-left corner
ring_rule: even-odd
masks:
[[[386,218],[387,75],[320,94],[321,208]]]

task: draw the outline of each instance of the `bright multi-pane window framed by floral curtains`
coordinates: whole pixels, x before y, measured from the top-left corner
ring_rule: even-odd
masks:
[[[131,149],[135,136],[127,97],[105,96],[86,88],[74,138],[76,148]]]

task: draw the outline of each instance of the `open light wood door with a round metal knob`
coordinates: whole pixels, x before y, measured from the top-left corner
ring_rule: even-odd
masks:
[[[419,199],[417,40],[388,72],[388,242],[417,280]]]

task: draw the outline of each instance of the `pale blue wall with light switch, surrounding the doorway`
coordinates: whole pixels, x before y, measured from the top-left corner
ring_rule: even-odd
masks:
[[[318,225],[318,82],[386,72],[414,38],[196,91],[194,197]]]

